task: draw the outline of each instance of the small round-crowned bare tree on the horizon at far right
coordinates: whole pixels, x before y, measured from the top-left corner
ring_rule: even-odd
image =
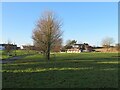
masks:
[[[113,43],[114,43],[114,39],[111,37],[106,37],[102,40],[102,46],[105,47],[107,51]]]

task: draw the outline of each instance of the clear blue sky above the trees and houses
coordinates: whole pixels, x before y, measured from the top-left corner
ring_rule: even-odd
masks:
[[[4,2],[2,40],[18,46],[33,44],[32,31],[44,11],[51,10],[62,20],[63,43],[77,40],[100,46],[102,39],[118,42],[117,2]]]

